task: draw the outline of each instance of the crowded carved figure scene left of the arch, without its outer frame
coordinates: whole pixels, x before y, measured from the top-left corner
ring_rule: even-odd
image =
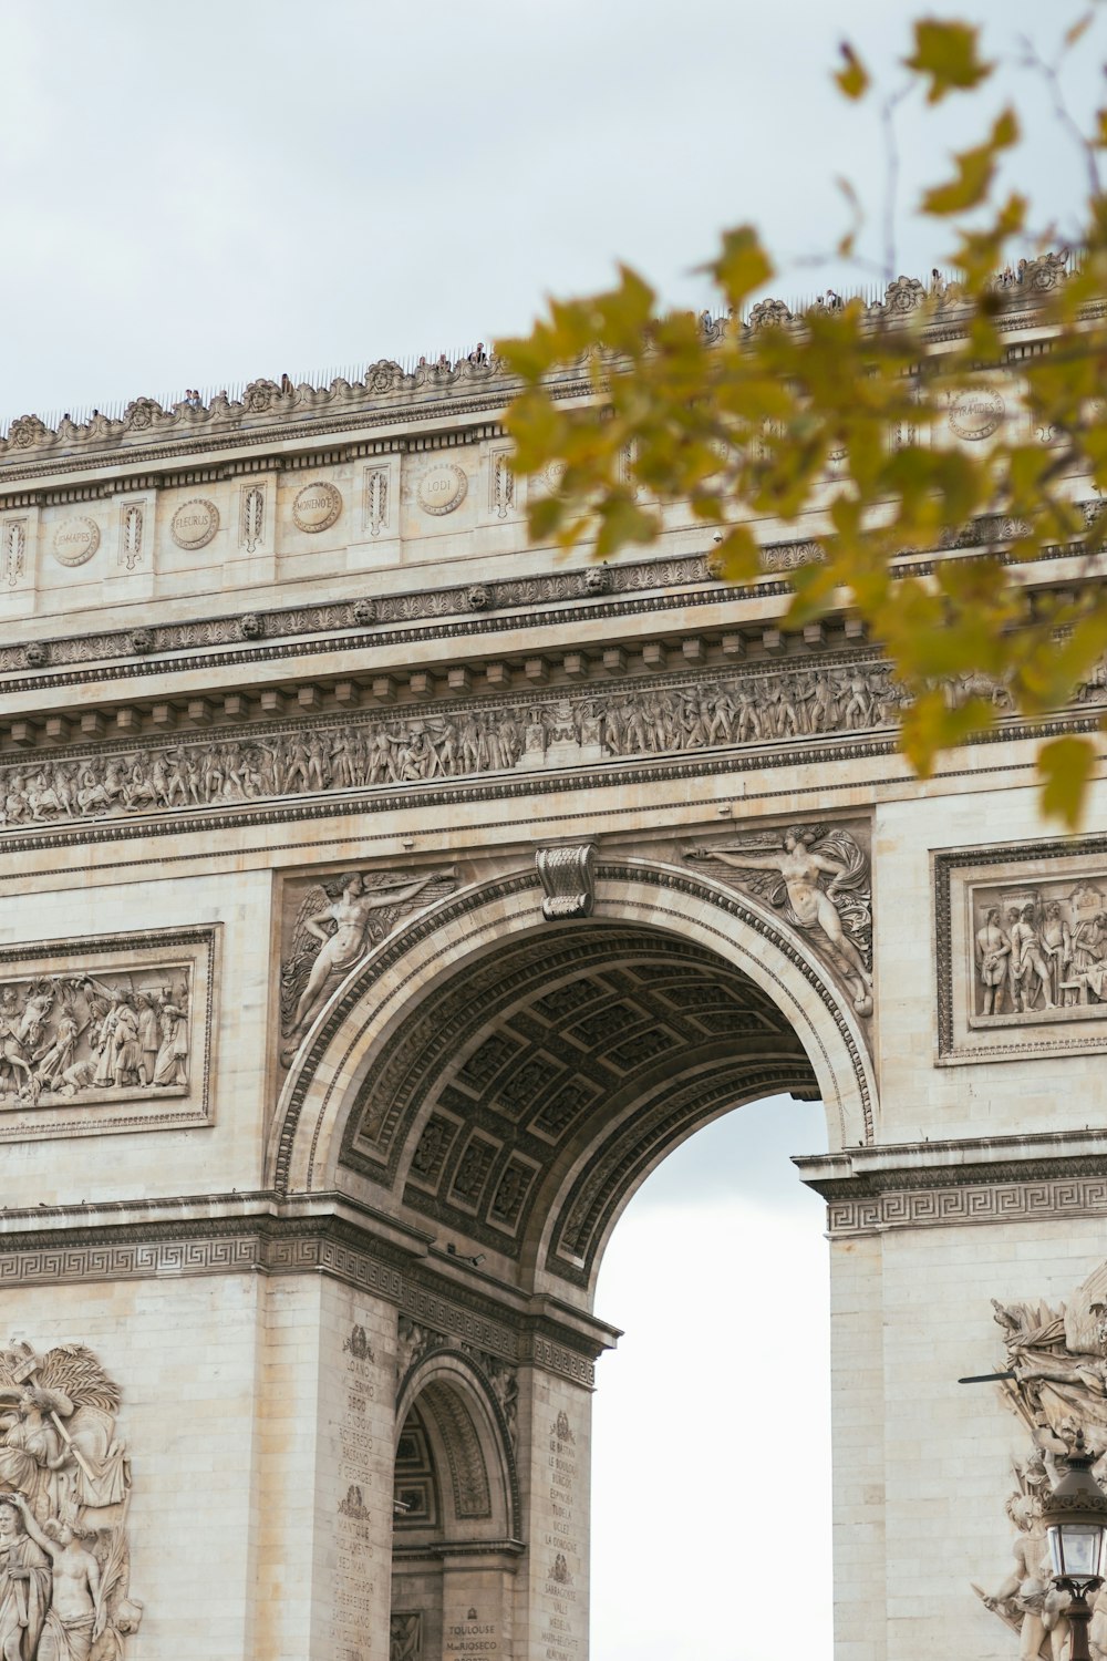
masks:
[[[154,975],[113,987],[91,975],[0,983],[0,1100],[171,1090],[188,1083],[188,1050],[186,980],[176,988]]]

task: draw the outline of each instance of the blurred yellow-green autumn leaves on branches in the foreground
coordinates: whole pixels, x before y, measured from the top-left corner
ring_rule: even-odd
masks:
[[[1056,60],[1036,63],[1087,174],[1082,247],[1067,272],[1046,252],[1047,233],[1034,236],[1026,199],[997,189],[1001,158],[1019,140],[1017,111],[1006,108],[919,203],[953,234],[949,282],[900,277],[883,306],[830,294],[798,317],[778,301],[750,309],[773,262],[757,231],[739,226],[705,267],[722,321],[661,311],[651,286],[621,267],[611,291],[553,301],[526,339],[496,347],[524,382],[508,412],[516,468],[546,477],[544,493],[529,497],[531,535],[609,560],[656,541],[664,507],[685,503],[715,533],[720,575],[750,583],[762,571],[753,525],[777,533],[803,518],[822,560],[790,573],[785,628],[843,606],[861,615],[895,666],[901,744],[919,774],[1001,713],[1044,718],[1104,681],[1107,515],[1085,523],[1077,500],[1107,483],[1097,171],[1107,108],[1080,135],[1057,81],[1087,22]],[[973,27],[919,20],[886,123],[911,91],[928,103],[981,98],[992,70]],[[876,96],[853,47],[841,48],[835,81],[848,100]],[[860,206],[845,191],[855,226],[838,252],[851,256]],[[1049,349],[1009,360],[1001,326],[1027,294]],[[936,344],[928,332],[939,319],[949,327]],[[953,432],[954,405],[963,430],[979,415],[974,442]],[[1027,581],[1057,550],[1075,561],[1074,578]],[[1094,733],[1039,747],[1042,807],[1069,827],[1099,754]]]

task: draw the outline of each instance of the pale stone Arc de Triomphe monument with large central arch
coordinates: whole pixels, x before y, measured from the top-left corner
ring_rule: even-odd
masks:
[[[1042,827],[1014,716],[914,781],[855,620],[782,631],[793,528],[745,588],[679,508],[611,568],[529,545],[510,392],[0,443],[0,1634],[584,1661],[604,1242],[792,1091],[838,1661],[1014,1658],[1036,1593],[983,1593],[1107,1422],[1107,837]]]

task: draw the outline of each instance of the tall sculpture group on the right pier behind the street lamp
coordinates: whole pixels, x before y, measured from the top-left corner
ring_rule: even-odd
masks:
[[[1059,1309],[996,1299],[992,1309],[1006,1345],[1006,1367],[994,1377],[1031,1448],[1014,1463],[1017,1487],[1006,1507],[1017,1530],[1014,1566],[994,1593],[974,1590],[1019,1634],[1019,1661],[1066,1661],[1069,1595],[1052,1585],[1042,1500],[1064,1477],[1077,1437],[1099,1450],[1094,1475],[1107,1492],[1107,1264]],[[1095,1661],[1107,1661],[1107,1585],[1092,1605],[1089,1644]]]

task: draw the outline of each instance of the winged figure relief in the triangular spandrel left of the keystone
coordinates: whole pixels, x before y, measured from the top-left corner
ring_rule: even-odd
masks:
[[[453,867],[349,870],[289,884],[280,955],[280,1058],[287,1065],[315,1015],[350,970],[400,922],[456,887]]]

